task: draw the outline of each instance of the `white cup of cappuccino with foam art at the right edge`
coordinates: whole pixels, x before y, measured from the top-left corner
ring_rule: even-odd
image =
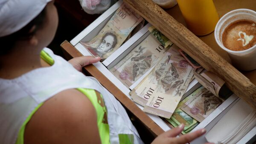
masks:
[[[249,25],[250,34],[251,30],[253,30],[253,33],[256,32],[255,29],[253,29],[256,28],[255,11],[250,9],[236,9],[230,11],[218,21],[215,27],[214,36],[217,44],[227,51],[232,64],[236,68],[244,71],[251,71],[256,69],[256,35],[250,35],[248,32],[244,32],[245,30],[239,29],[245,28],[247,25],[242,25],[245,23],[251,25]],[[239,25],[241,26],[239,27]],[[228,34],[230,34],[230,36],[228,36]],[[231,37],[233,37],[233,39],[231,39]],[[237,47],[238,42],[244,47],[241,47],[241,49],[239,49],[239,47],[233,49]]]

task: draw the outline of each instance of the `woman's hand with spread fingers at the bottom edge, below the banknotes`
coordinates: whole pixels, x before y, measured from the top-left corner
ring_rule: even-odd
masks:
[[[184,124],[180,124],[179,127],[175,127],[172,130],[166,131],[165,133],[159,135],[157,138],[154,139],[152,144],[186,144],[206,133],[205,129],[201,129],[193,133],[188,133],[186,135],[176,137],[182,132],[183,129]]]

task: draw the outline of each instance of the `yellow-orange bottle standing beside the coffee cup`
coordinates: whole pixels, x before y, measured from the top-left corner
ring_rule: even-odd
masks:
[[[203,36],[215,29],[219,17],[212,0],[177,0],[187,27]]]

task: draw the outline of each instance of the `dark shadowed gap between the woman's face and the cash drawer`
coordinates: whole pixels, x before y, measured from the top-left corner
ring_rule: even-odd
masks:
[[[55,6],[59,16],[58,29],[48,48],[64,57],[60,47],[61,43],[64,40],[72,40],[100,14],[87,14],[82,9],[79,0],[55,0]]]

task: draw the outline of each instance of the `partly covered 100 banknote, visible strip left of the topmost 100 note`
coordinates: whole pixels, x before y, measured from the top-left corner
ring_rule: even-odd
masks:
[[[144,106],[158,85],[158,81],[166,68],[171,55],[179,54],[178,48],[175,46],[170,47],[163,58],[155,65],[153,70],[131,91],[131,98],[134,102]]]

